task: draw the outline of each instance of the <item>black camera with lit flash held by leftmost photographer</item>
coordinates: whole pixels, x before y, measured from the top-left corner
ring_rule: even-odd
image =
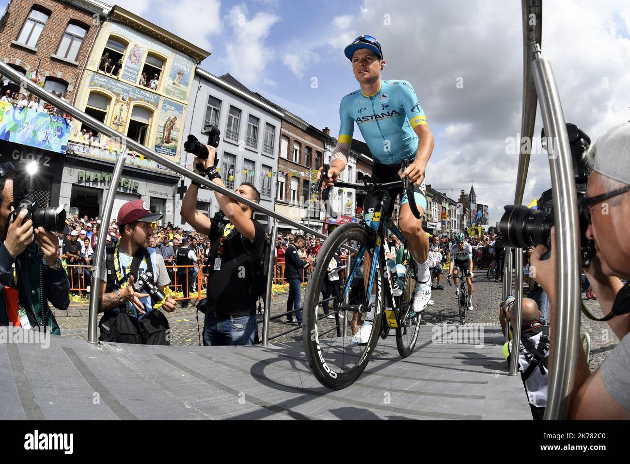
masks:
[[[23,210],[28,211],[24,220],[33,220],[33,229],[43,227],[49,232],[63,232],[69,234],[70,230],[66,225],[66,205],[48,206],[47,208],[38,208],[37,200],[33,194],[33,177],[37,173],[37,162],[33,161],[24,168],[16,169],[13,180],[13,198],[15,209],[9,215],[9,221],[13,222]]]

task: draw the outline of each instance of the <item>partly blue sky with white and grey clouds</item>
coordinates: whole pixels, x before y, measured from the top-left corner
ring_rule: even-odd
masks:
[[[343,47],[374,35],[387,61],[383,78],[411,82],[435,135],[427,181],[455,199],[472,181],[478,202],[490,206],[490,225],[513,200],[518,155],[510,141],[520,131],[523,66],[518,0],[117,4],[212,52],[202,68],[233,74],[335,135],[341,97],[358,88]],[[546,0],[542,18],[542,52],[566,120],[593,140],[630,120],[630,2]],[[536,145],[534,152],[526,205],[551,186],[547,157]]]

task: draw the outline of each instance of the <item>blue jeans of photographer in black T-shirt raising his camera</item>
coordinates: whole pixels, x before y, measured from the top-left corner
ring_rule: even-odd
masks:
[[[258,324],[256,316],[232,316],[217,319],[206,312],[203,321],[203,345],[253,345]]]

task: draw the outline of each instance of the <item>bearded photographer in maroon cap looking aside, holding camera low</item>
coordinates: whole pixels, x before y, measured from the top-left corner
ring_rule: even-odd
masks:
[[[101,342],[169,345],[172,339],[168,319],[159,309],[175,311],[175,299],[159,299],[159,292],[170,283],[164,258],[148,248],[153,233],[151,222],[161,219],[151,213],[146,201],[128,201],[118,211],[122,237],[115,246],[106,246],[105,262],[101,266],[101,299],[98,312],[105,312],[99,322]],[[148,274],[152,273],[149,278]],[[149,280],[142,289],[134,282]],[[156,292],[156,285],[159,292]],[[142,290],[140,292],[139,290]],[[155,292],[151,297],[147,292]],[[156,301],[157,300],[157,301]]]

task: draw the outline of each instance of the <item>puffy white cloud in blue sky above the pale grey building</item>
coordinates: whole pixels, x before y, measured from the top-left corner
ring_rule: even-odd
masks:
[[[227,42],[224,62],[245,85],[256,84],[263,77],[266,65],[273,57],[273,49],[265,45],[265,39],[279,20],[278,16],[261,12],[248,18],[244,4],[229,11],[227,23],[232,28],[233,37]]]

